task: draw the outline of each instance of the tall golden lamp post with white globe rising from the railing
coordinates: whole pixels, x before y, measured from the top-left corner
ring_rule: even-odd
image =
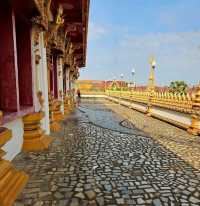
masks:
[[[150,58],[150,66],[151,66],[151,70],[150,70],[150,75],[149,75],[149,82],[148,82],[148,87],[147,87],[147,91],[148,91],[148,104],[147,104],[147,116],[151,116],[152,113],[152,104],[151,104],[151,100],[152,97],[154,96],[154,92],[155,92],[155,67],[156,67],[156,61],[154,58]]]

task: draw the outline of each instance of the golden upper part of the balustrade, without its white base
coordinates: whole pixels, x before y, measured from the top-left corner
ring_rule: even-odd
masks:
[[[106,91],[111,97],[132,100],[147,106],[151,114],[152,106],[169,109],[172,111],[191,115],[191,126],[188,132],[193,135],[200,134],[200,85],[192,97],[191,94],[174,94],[171,92],[150,93],[146,91]],[[151,95],[152,94],[152,95]],[[150,105],[150,107],[148,107]],[[148,114],[150,116],[150,114]],[[184,125],[183,125],[184,126]],[[186,126],[184,126],[186,128]]]

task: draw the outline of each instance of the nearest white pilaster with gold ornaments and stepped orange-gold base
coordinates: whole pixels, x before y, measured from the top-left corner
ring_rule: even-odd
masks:
[[[39,51],[39,36],[40,30],[34,30],[34,55],[33,60],[35,60],[35,64],[33,68],[35,69],[35,95],[37,101],[36,111],[25,115],[23,117],[24,123],[24,142],[22,149],[24,151],[41,151],[47,149],[50,143],[53,141],[53,138],[46,135],[45,131],[41,127],[41,120],[45,117],[44,112],[44,97],[42,92],[42,84],[46,84],[47,82],[40,81],[40,51]],[[38,108],[40,107],[40,108]]]

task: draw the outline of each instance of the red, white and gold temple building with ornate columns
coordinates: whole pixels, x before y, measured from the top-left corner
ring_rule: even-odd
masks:
[[[89,0],[1,1],[0,205],[12,205],[28,181],[10,161],[48,149],[50,131],[74,106],[88,16]]]

